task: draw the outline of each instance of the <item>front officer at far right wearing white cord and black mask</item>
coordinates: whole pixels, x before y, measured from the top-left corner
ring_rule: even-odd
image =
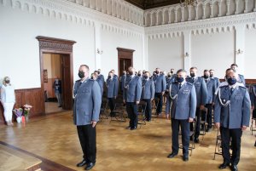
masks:
[[[218,167],[224,169],[230,166],[237,171],[240,160],[241,134],[249,126],[251,101],[247,88],[237,83],[236,73],[230,71],[227,75],[229,85],[218,88],[215,100],[214,123],[220,128],[222,156],[224,162]],[[230,157],[230,139],[232,157]]]

